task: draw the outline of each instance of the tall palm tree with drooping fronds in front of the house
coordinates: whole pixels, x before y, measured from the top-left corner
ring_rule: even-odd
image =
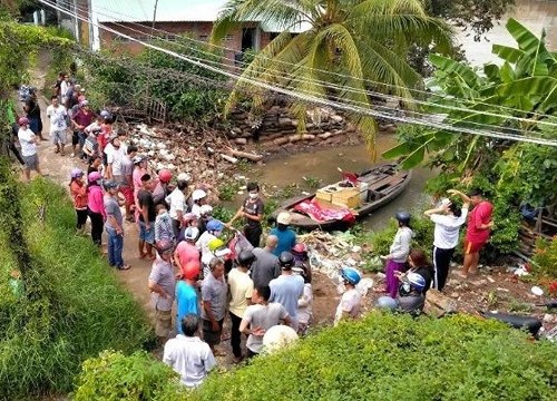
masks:
[[[372,108],[367,80],[381,82],[373,90],[410,99],[410,89],[422,81],[407,62],[410,47],[431,45],[448,51],[452,41],[451,28],[427,16],[420,0],[231,0],[214,25],[212,42],[218,43],[246,21],[282,27],[282,33],[244,69],[225,111],[241,90],[253,89],[252,79],[367,108]],[[309,29],[290,33],[301,26]],[[263,96],[254,94],[254,105],[260,106]],[[305,130],[306,104],[294,101],[292,111],[300,121],[299,130]],[[374,155],[374,119],[358,113],[349,118]]]

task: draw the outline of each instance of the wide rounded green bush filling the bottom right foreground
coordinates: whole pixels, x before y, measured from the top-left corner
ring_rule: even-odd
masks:
[[[371,313],[246,368],[188,400],[555,400],[557,348],[495,321]]]

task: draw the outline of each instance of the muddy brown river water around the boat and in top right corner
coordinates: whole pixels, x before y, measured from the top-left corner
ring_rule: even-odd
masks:
[[[485,62],[496,61],[496,57],[491,53],[494,43],[516,46],[505,28],[505,21],[511,17],[524,23],[535,35],[539,35],[545,27],[548,47],[557,49],[557,1],[517,0],[516,6],[501,22],[496,23],[496,27],[486,35],[487,40],[475,42],[471,36],[467,36],[467,32],[458,36],[471,63],[481,66]],[[394,139],[393,135],[380,135],[377,140],[378,155],[393,146]],[[289,184],[303,186],[304,176],[319,178],[323,184],[329,184],[340,179],[338,167],[343,170],[361,172],[371,164],[365,146],[341,146],[313,153],[284,154],[283,157],[276,157],[257,168],[250,176],[280,187]],[[380,228],[400,208],[416,209],[428,205],[429,197],[423,194],[423,189],[427,179],[434,174],[427,168],[414,169],[410,185],[404,193],[385,207],[371,214],[364,224],[372,229]]]

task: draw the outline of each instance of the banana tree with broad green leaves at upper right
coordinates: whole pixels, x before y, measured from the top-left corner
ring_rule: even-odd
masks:
[[[506,27],[518,48],[494,45],[492,52],[504,61],[502,66],[486,65],[481,75],[463,62],[430,56],[437,71],[430,82],[433,95],[429,99],[434,106],[428,107],[428,113],[444,115],[444,123],[453,127],[477,130],[500,127],[521,135],[539,130],[544,119],[557,110],[557,55],[547,50],[545,30],[538,38],[514,19]],[[429,129],[407,137],[383,157],[402,157],[405,167],[413,167],[428,156],[460,149],[456,169],[462,173],[478,168],[478,157],[482,154],[478,150],[500,147],[504,151],[509,146],[480,136]]]

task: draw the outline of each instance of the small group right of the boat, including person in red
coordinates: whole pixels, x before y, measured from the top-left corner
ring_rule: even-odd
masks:
[[[488,242],[494,226],[494,206],[479,189],[471,190],[469,195],[456,189],[448,190],[448,194],[460,198],[462,206],[458,206],[457,199],[443,198],[437,207],[424,212],[434,223],[432,264],[422,250],[411,248],[413,232],[410,214],[403,211],[395,214],[399,229],[390,253],[381,256],[385,261],[385,287],[378,291],[385,295],[377,301],[379,307],[420,314],[428,290],[443,291],[460,227],[467,221],[465,262],[462,270],[455,273],[463,280],[478,273],[479,252]],[[469,213],[470,206],[473,208]]]

